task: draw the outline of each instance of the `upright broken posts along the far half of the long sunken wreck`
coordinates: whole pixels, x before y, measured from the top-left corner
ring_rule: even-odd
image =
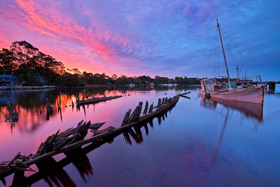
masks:
[[[171,98],[169,97],[169,99],[166,98],[159,98],[159,101],[158,101],[158,104],[157,104],[157,108],[159,108],[160,106],[164,105],[164,104],[167,104],[169,102]],[[139,120],[139,117],[141,115],[141,110],[142,110],[142,105],[143,105],[143,102],[140,101],[138,106],[136,106],[136,108],[134,109],[134,111],[132,112],[132,114],[130,115],[131,113],[131,110],[132,109],[129,109],[126,114],[124,115],[124,118],[123,118],[123,122],[121,123],[121,127],[126,125],[126,124],[130,124],[130,123],[133,123],[133,122],[137,122]],[[146,101],[146,104],[145,104],[145,108],[144,108],[144,111],[143,111],[143,114],[142,115],[145,115],[147,113],[151,113],[154,109],[154,102],[150,105],[150,108],[149,108],[149,111],[148,111],[148,106],[149,106],[149,102]]]

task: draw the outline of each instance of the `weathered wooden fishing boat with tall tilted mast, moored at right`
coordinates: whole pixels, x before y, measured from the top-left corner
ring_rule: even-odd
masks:
[[[217,27],[223,50],[228,83],[225,85],[224,83],[218,83],[217,78],[206,78],[200,81],[202,90],[197,88],[198,92],[206,97],[263,104],[264,86],[259,75],[240,78],[239,80],[237,79],[237,81],[230,81],[218,19]],[[253,81],[255,84],[252,84]]]

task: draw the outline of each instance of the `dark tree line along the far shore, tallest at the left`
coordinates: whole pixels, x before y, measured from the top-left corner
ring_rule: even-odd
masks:
[[[105,73],[81,73],[77,68],[65,69],[62,62],[58,62],[50,55],[39,51],[26,41],[12,42],[10,49],[0,51],[0,75],[14,75],[23,81],[26,86],[42,86],[38,82],[38,75],[47,78],[48,85],[53,86],[85,86],[85,85],[116,85],[127,84],[200,84],[201,78],[160,77],[149,76],[128,77],[125,75],[107,76]]]

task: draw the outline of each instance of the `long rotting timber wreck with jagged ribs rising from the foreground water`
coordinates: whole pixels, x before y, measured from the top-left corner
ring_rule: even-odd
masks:
[[[51,136],[47,137],[45,142],[41,143],[37,152],[35,153],[35,155],[32,157],[31,160],[26,159],[27,161],[22,160],[24,162],[18,162],[18,163],[12,163],[12,161],[10,160],[11,162],[9,162],[9,164],[7,164],[7,161],[0,163],[1,166],[0,178],[10,175],[11,173],[14,173],[15,170],[18,170],[18,168],[24,168],[24,169],[28,168],[28,166],[30,165],[42,162],[43,160],[51,158],[52,156],[55,156],[57,154],[68,152],[70,150],[81,147],[90,142],[102,140],[112,134],[121,133],[126,128],[132,127],[138,124],[139,122],[142,122],[148,118],[151,118],[152,116],[155,116],[157,114],[162,113],[163,111],[166,111],[166,109],[172,108],[179,100],[180,95],[185,95],[185,94],[178,94],[177,96],[174,96],[173,98],[169,98],[169,99],[167,99],[167,97],[159,99],[158,105],[153,107],[153,103],[152,103],[149,108],[149,111],[147,107],[149,103],[148,101],[146,101],[145,108],[142,115],[141,115],[141,109],[142,109],[143,102],[139,102],[139,105],[136,106],[136,109],[133,111],[131,115],[130,115],[131,109],[129,109],[129,111],[126,112],[121,127],[115,128],[110,126],[102,130],[91,130],[90,132],[93,133],[93,136],[85,140],[84,138],[87,135],[88,129],[91,125],[90,121],[88,123],[86,122],[83,123],[82,120],[81,122],[78,123],[78,126],[76,128],[72,127],[61,133],[59,133],[58,130],[55,134],[52,134]],[[16,164],[16,165],[12,165],[12,164]],[[29,170],[32,169],[29,168]]]

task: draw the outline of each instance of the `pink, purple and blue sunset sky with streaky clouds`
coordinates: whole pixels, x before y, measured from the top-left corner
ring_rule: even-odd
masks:
[[[238,63],[279,81],[279,10],[276,0],[1,0],[0,47],[25,40],[66,68],[108,76],[226,76],[213,55],[218,18],[243,56],[225,49],[230,77]]]

